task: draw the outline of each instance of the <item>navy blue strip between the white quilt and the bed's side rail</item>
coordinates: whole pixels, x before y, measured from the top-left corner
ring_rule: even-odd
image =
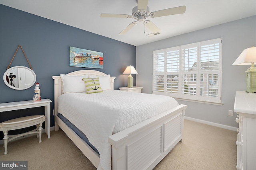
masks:
[[[98,150],[89,142],[86,135],[84,135],[84,133],[82,133],[82,131],[80,131],[73,123],[71,123],[68,119],[66,119],[66,117],[64,117],[60,113],[58,113],[58,117],[60,117],[60,119],[62,119],[62,121],[64,121],[64,123],[66,123],[66,125],[68,125],[68,127],[70,127],[72,131],[74,131],[81,139],[83,139],[95,152],[100,154]]]

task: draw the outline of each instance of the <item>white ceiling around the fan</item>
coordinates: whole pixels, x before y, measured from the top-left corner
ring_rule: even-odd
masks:
[[[144,34],[142,22],[119,35],[133,18],[100,18],[101,13],[131,15],[136,0],[0,0],[0,4],[135,46],[256,15],[256,0],[148,0],[150,12],[186,6],[184,14],[148,18],[161,30],[148,37],[151,32],[146,27]]]

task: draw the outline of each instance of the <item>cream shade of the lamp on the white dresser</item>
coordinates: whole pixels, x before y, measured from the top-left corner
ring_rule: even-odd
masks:
[[[245,49],[233,65],[251,65],[252,63],[256,63],[256,47],[250,47]]]

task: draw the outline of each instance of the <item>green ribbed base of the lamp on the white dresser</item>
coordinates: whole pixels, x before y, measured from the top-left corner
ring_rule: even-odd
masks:
[[[246,92],[256,93],[256,67],[252,64],[246,70]]]

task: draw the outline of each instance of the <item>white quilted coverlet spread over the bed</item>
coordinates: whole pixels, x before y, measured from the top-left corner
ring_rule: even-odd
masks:
[[[58,112],[82,131],[100,152],[98,169],[111,169],[108,137],[178,106],[169,96],[106,90],[58,97]]]

